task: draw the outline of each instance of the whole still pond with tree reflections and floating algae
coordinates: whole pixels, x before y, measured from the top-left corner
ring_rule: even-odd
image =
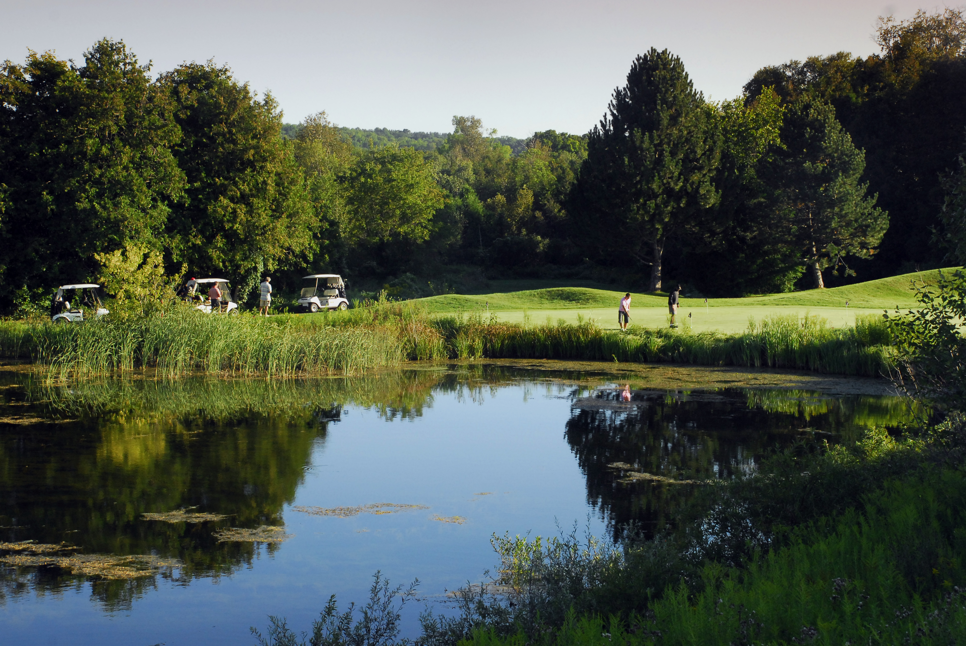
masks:
[[[601,364],[44,383],[0,371],[5,643],[244,644],[328,595],[481,580],[492,534],[672,522],[703,481],[896,426],[872,379]],[[32,542],[32,543],[27,543]]]

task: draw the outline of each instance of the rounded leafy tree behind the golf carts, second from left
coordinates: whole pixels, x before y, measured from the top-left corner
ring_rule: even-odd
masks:
[[[227,68],[185,64],[159,82],[176,103],[174,154],[187,176],[165,230],[172,261],[227,274],[243,299],[263,270],[312,248],[319,219],[294,145],[274,98],[259,100]]]

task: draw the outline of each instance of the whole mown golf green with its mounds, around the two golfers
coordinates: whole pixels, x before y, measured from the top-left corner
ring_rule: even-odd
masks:
[[[827,290],[746,298],[709,298],[707,304],[703,298],[682,298],[678,323],[690,324],[696,331],[738,332],[748,327],[751,318],[761,320],[776,314],[812,314],[828,319],[834,327],[851,325],[855,323],[857,315],[881,315],[887,309],[893,311],[896,307],[915,307],[912,282],[931,284],[936,281],[938,274],[939,270],[935,269]],[[511,287],[511,281],[501,283],[500,287]],[[437,314],[490,313],[496,314],[500,321],[512,323],[577,323],[582,318],[593,319],[606,328],[615,328],[617,305],[623,295],[623,292],[590,287],[554,287],[482,295],[439,295],[414,302]],[[667,295],[632,293],[632,296],[632,324],[646,327],[668,324]],[[689,313],[692,315],[690,319]]]

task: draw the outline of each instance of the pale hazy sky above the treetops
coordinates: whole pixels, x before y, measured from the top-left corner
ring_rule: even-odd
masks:
[[[0,0],[0,58],[27,49],[80,59],[123,39],[155,71],[213,58],[294,123],[326,110],[340,126],[450,131],[474,114],[500,134],[584,132],[654,46],[696,87],[732,98],[754,70],[838,50],[869,54],[876,16],[904,0],[492,2],[71,2]]]

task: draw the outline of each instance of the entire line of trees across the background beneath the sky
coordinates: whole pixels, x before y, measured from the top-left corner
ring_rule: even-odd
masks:
[[[0,305],[105,268],[223,274],[238,296],[480,267],[781,292],[961,262],[966,21],[882,18],[880,53],[756,71],[706,100],[651,49],[582,135],[283,124],[231,70],[153,77],[124,42],[0,70]],[[365,137],[364,141],[361,141]]]

